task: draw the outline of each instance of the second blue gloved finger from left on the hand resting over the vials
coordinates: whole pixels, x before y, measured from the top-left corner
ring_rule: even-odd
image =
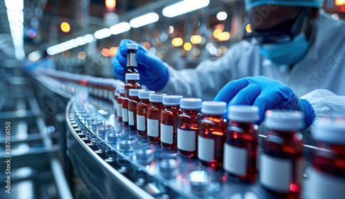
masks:
[[[261,87],[257,84],[249,84],[240,90],[228,105],[253,105],[257,96],[261,92]]]

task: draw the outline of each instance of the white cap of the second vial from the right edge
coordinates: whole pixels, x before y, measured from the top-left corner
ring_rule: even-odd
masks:
[[[266,111],[265,125],[268,129],[295,131],[302,129],[304,114],[295,110]]]

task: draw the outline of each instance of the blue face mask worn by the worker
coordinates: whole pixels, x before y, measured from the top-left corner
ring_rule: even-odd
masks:
[[[290,43],[264,43],[259,45],[260,53],[277,65],[291,65],[300,61],[308,52],[306,34],[295,36]]]

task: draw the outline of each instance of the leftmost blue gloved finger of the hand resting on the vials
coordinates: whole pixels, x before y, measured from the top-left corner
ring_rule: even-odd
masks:
[[[213,101],[222,101],[225,103],[229,103],[233,97],[244,87],[248,85],[248,81],[244,78],[235,80],[235,81],[230,81],[227,83],[215,96]]]

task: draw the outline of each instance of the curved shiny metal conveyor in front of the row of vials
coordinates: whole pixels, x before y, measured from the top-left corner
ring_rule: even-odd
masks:
[[[74,99],[68,103],[68,153],[94,198],[277,198],[259,183],[241,182],[222,169],[201,166],[197,158],[181,157],[177,151],[161,148],[130,132],[112,114],[112,103],[93,97],[88,101],[88,109],[121,131],[117,142],[132,140],[134,147],[119,151],[97,137],[114,151],[114,157],[107,156],[86,138],[86,132],[95,136],[96,132],[76,116]]]

